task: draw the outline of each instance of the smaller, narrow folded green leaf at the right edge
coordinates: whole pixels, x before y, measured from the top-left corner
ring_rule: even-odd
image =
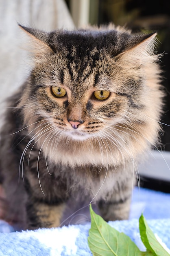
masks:
[[[147,250],[153,252],[153,255],[156,256],[170,256],[156,239],[143,214],[139,218],[139,230],[142,242]]]

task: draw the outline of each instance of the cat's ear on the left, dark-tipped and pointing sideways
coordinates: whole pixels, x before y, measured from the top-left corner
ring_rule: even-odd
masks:
[[[49,54],[53,52],[48,44],[48,33],[39,29],[24,27],[20,24],[18,25],[31,38],[29,42],[30,46],[28,49],[30,52],[35,55]]]

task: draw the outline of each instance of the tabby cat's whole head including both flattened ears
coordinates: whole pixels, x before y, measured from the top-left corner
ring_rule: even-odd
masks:
[[[105,137],[114,125],[132,129],[144,124],[146,115],[155,118],[150,109],[159,112],[149,99],[157,97],[151,92],[157,79],[155,34],[22,29],[32,38],[35,66],[21,102],[30,104],[34,121],[48,120],[58,132],[82,140]]]

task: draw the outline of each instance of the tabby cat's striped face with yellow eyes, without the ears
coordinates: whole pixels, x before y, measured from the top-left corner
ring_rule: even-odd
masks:
[[[44,67],[38,71],[35,101],[57,130],[86,139],[109,123],[118,123],[128,100],[117,93],[119,85],[109,56],[100,53],[98,60],[94,55],[79,60],[73,56],[70,63],[65,55],[53,56],[48,62],[51,73]]]

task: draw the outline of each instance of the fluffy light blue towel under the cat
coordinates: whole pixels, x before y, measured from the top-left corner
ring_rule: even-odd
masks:
[[[129,220],[109,222],[144,249],[139,238],[141,212],[162,242],[170,248],[170,194],[137,188],[133,191]],[[6,222],[0,222],[0,256],[92,256],[87,237],[90,223],[61,228],[12,232]]]

